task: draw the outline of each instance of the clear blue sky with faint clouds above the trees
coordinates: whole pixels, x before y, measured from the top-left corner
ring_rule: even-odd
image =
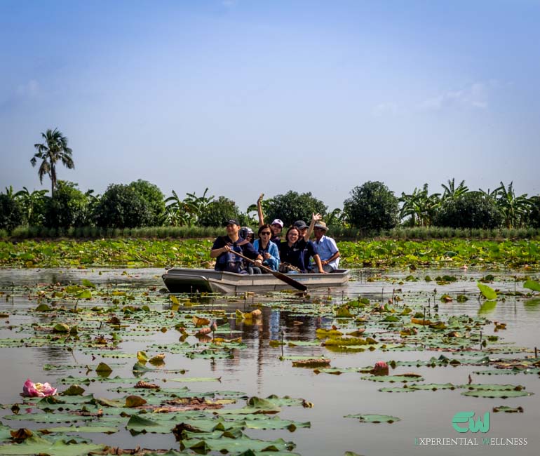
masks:
[[[540,194],[540,0],[0,0],[0,191]]]

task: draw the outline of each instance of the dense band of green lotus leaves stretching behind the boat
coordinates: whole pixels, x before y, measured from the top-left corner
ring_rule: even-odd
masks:
[[[0,267],[208,267],[212,239],[0,241]],[[446,239],[340,241],[343,267],[540,267],[540,242]]]

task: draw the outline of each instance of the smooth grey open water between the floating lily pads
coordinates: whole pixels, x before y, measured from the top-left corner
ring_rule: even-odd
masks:
[[[123,274],[122,269],[100,270],[65,270],[43,269],[0,270],[0,290],[8,295],[0,297],[0,312],[10,313],[18,309],[34,308],[35,300],[28,299],[24,286],[32,287],[37,283],[81,283],[82,279],[90,279],[94,283],[111,287],[128,286],[134,290],[146,290],[150,287],[162,288],[161,269],[130,269]],[[489,271],[496,276],[496,281],[490,283],[492,288],[513,291],[527,291],[522,288],[522,281],[516,285],[513,276],[523,276],[523,271]],[[405,281],[405,277],[412,274],[419,281]],[[458,277],[458,281],[449,285],[438,286],[435,281],[426,282],[424,277],[451,274]],[[320,300],[340,303],[351,297],[369,297],[374,302],[386,302],[390,297],[403,298],[403,302],[420,304],[421,307],[431,308],[436,302],[440,314],[468,314],[478,315],[480,307],[478,301],[478,288],[476,280],[485,276],[486,271],[452,270],[419,270],[419,271],[353,271],[353,280],[344,288],[335,290],[320,290],[312,293]],[[379,275],[381,278],[379,278]],[[530,274],[538,279],[538,274]],[[371,280],[374,277],[376,280]],[[456,295],[463,293],[470,297],[467,302],[441,303],[440,295],[448,293]],[[13,296],[12,296],[13,295]],[[221,298],[213,300],[215,307],[222,307],[227,311],[235,309],[250,310],[250,304],[269,302],[274,298],[269,296],[248,297],[237,302],[227,302]],[[403,303],[402,302],[402,303]],[[534,356],[534,347],[540,348],[540,303],[525,298],[506,296],[506,300],[499,299],[497,308],[486,315],[491,321],[501,321],[507,324],[507,329],[497,333],[503,342],[510,342],[516,347],[526,347],[531,352],[521,354],[497,354],[494,357],[522,357]],[[32,319],[33,318],[33,319]],[[0,320],[0,337],[19,337],[17,326],[22,323],[31,323],[46,318],[36,319],[34,316],[18,315],[10,317],[10,323]],[[189,383],[193,391],[236,390],[244,391],[250,396],[266,397],[270,394],[278,396],[288,395],[295,398],[305,398],[314,403],[313,408],[283,408],[280,417],[294,419],[301,422],[311,422],[311,428],[299,428],[294,433],[288,431],[246,431],[246,434],[273,440],[284,438],[286,441],[296,443],[295,452],[302,455],[343,455],[345,451],[354,451],[360,455],[538,455],[540,452],[540,380],[538,375],[474,375],[474,383],[511,383],[524,385],[533,396],[522,398],[493,399],[473,398],[461,396],[461,391],[417,391],[414,393],[384,393],[377,391],[381,387],[398,386],[396,384],[383,384],[360,380],[363,374],[345,373],[342,375],[316,375],[311,369],[292,368],[290,361],[279,361],[281,349],[269,347],[269,340],[283,337],[285,340],[315,340],[316,328],[329,328],[332,318],[290,315],[287,311],[279,311],[264,307],[262,324],[236,325],[231,318],[231,327],[242,330],[243,341],[248,344],[247,349],[236,351],[234,359],[190,360],[180,354],[167,354],[166,368],[189,370],[189,377],[221,377],[218,382]],[[302,322],[302,324],[298,324]],[[11,324],[15,328],[8,330]],[[485,328],[485,335],[493,334],[493,325]],[[137,350],[149,350],[154,343],[174,343],[178,340],[175,330],[166,333],[150,333],[145,340],[126,340],[121,348],[126,353],[134,354]],[[129,338],[126,338],[129,339]],[[363,353],[335,353],[324,347],[285,347],[285,354],[324,356],[330,358],[332,367],[363,367],[372,366],[376,361],[389,360],[428,360],[432,356],[440,356],[440,351],[365,351]],[[446,356],[453,356],[445,353]],[[465,354],[465,357],[470,357]],[[42,366],[46,363],[81,365],[97,363],[90,356],[74,351],[69,353],[57,348],[0,348],[0,403],[11,404],[20,401],[19,393],[27,377],[34,381],[56,381],[66,375],[84,375],[84,370],[51,370],[45,371]],[[110,358],[104,359],[112,363]],[[113,375],[133,377],[131,367],[133,358],[114,360],[124,363],[114,368]],[[479,366],[458,367],[398,367],[391,373],[419,373],[425,377],[427,383],[466,384],[468,375],[475,370],[482,370]],[[178,377],[178,375],[161,375],[160,378]],[[134,382],[135,383],[135,382]],[[182,386],[175,384],[174,386]],[[110,385],[108,385],[110,387]],[[60,390],[64,389],[60,385]],[[95,396],[113,398],[115,393],[107,391],[107,385],[92,384],[87,392]],[[478,415],[492,410],[495,405],[521,405],[525,413],[492,413],[491,428],[487,434],[458,434],[452,429],[452,417],[455,413],[473,410]],[[9,410],[0,410],[0,415],[6,415]],[[376,413],[400,417],[400,422],[393,424],[363,424],[358,420],[344,418],[344,415],[356,413]],[[0,416],[1,419],[1,416]],[[4,421],[11,427],[15,422]],[[38,424],[29,428],[48,427],[47,424]],[[415,438],[527,438],[527,445],[521,446],[419,446],[415,445]],[[97,434],[92,436],[98,443],[120,445],[123,448],[134,448],[141,445],[143,448],[178,448],[171,435],[151,435],[132,437],[125,430],[110,436]],[[0,451],[1,452],[1,451]]]

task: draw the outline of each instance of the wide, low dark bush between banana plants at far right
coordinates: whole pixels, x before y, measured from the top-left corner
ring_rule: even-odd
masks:
[[[496,228],[502,221],[503,216],[492,196],[468,192],[443,201],[434,224],[452,228]]]

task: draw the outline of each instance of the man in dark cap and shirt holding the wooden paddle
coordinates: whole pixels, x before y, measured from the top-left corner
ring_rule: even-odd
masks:
[[[236,219],[227,220],[227,236],[217,236],[210,250],[210,258],[216,258],[215,270],[236,272],[237,274],[249,274],[251,271],[244,263],[243,259],[235,255],[231,250],[241,253],[245,257],[255,260],[255,267],[252,272],[260,274],[257,265],[262,264],[263,257],[259,255],[251,243],[238,235],[240,223]]]

